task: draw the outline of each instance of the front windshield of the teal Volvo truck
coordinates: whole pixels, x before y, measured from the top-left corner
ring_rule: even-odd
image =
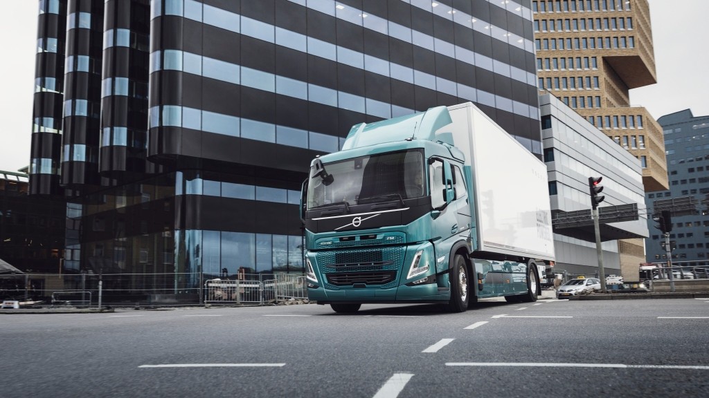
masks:
[[[311,173],[308,209],[401,201],[425,195],[423,151],[408,149],[323,165],[323,175]]]

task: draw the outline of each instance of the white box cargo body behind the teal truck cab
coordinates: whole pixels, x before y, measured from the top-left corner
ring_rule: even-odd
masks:
[[[472,103],[448,107],[471,168],[477,251],[554,260],[547,166]]]

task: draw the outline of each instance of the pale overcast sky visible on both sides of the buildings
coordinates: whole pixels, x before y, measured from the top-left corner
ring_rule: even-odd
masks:
[[[654,118],[691,109],[709,115],[707,0],[649,0],[657,84],[630,91]],[[37,40],[36,0],[0,0],[0,170],[30,161]]]

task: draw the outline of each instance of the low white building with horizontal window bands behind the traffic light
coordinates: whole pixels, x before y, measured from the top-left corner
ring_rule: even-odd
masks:
[[[637,205],[638,215],[637,220],[601,224],[603,268],[607,275],[637,280],[638,267],[620,269],[618,239],[648,236],[640,161],[551,94],[540,96],[540,116],[554,218],[557,257],[554,272],[563,270],[571,275],[598,272],[596,237],[593,223],[589,222],[592,219],[588,177],[603,177],[600,195],[605,200],[599,205],[599,212],[626,205],[607,215],[627,217],[635,214],[635,210],[627,207]],[[584,216],[583,211],[588,211],[588,215]]]

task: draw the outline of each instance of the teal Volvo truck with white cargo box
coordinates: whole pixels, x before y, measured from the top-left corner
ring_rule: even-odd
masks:
[[[308,298],[531,302],[554,261],[547,168],[472,103],[350,130],[303,183]]]

